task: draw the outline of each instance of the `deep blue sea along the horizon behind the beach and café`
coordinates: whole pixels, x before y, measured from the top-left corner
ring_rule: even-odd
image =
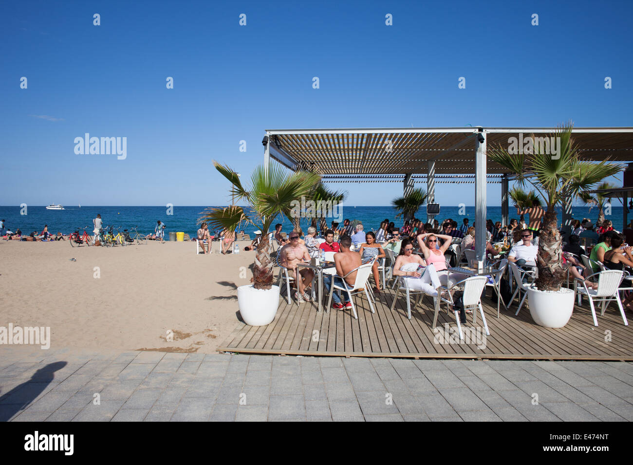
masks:
[[[62,232],[68,234],[77,230],[83,230],[84,226],[88,226],[89,233],[92,231],[92,219],[96,218],[97,213],[101,214],[104,225],[113,225],[115,228],[120,227],[122,230],[125,228],[137,227],[139,233],[153,233],[154,227],[158,220],[162,221],[166,225],[166,232],[185,232],[190,236],[196,235],[197,219],[201,216],[201,213],[206,209],[204,206],[173,206],[171,210],[168,210],[162,206],[77,206],[66,207],[65,210],[47,210],[44,206],[0,206],[0,220],[5,221],[5,227],[14,231],[17,228],[22,230],[23,234],[30,234],[31,232],[41,232],[44,229],[44,225],[48,225],[48,230],[51,233]],[[248,209],[246,209],[248,213]],[[365,230],[377,230],[380,227],[380,221],[385,218],[389,218],[389,221],[394,221],[396,226],[403,225],[403,220],[396,220],[396,211],[391,206],[342,206],[341,218],[349,218],[349,220],[360,221],[365,226]],[[613,221],[613,227],[617,230],[622,228],[623,207],[611,206],[611,211],[606,211],[606,219]],[[418,213],[417,218],[425,220],[427,218],[426,209],[422,207]],[[469,218],[470,225],[472,225],[475,218],[475,207],[466,207],[461,209],[458,206],[441,206],[439,215],[436,216],[436,220],[442,222],[444,218],[453,218],[457,221],[458,225],[462,224],[463,218]],[[486,218],[492,221],[501,221],[501,206],[489,206],[487,208]],[[518,218],[516,210],[510,207],[510,218]],[[558,224],[562,218],[561,209],[558,209]],[[589,207],[573,207],[573,218],[582,220],[582,218],[589,218],[592,221],[596,221],[598,218],[598,209]],[[338,218],[337,218],[338,219]],[[327,224],[334,220],[333,218],[326,218]],[[527,220],[527,218],[526,218]],[[289,232],[292,230],[292,224],[287,218],[279,218],[279,223],[282,223],[282,231]],[[342,223],[342,222],[341,222]],[[306,232],[310,220],[308,218],[302,218],[301,226],[304,232]],[[243,225],[241,230],[253,236],[253,232],[259,229],[258,226]],[[167,234],[166,234],[167,236]]]

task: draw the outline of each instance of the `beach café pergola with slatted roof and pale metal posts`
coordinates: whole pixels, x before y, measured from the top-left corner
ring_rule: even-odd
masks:
[[[266,130],[264,166],[270,158],[290,170],[311,170],[327,182],[403,182],[404,193],[416,178],[425,178],[429,203],[435,202],[436,182],[475,184],[475,256],[486,257],[486,183],[501,183],[501,213],[508,223],[508,182],[503,166],[489,162],[488,145],[508,147],[517,141],[553,135],[558,128],[342,128]],[[601,161],[633,159],[633,128],[573,128],[580,158]],[[541,141],[542,143],[542,141]],[[522,144],[520,144],[522,146]],[[571,201],[563,225],[572,216]]]

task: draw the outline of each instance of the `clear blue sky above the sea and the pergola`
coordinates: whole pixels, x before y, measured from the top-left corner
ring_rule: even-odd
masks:
[[[631,1],[0,8],[3,205],[223,204],[229,185],[211,161],[249,177],[266,128],[633,125]],[[127,158],[76,155],[86,132],[127,137]],[[402,192],[332,187],[358,206]],[[474,186],[439,184],[436,197],[472,205]],[[490,185],[488,204],[499,197]]]

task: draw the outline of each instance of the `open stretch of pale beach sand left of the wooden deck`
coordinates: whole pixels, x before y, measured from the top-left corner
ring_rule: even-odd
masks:
[[[50,326],[51,347],[213,353],[239,322],[237,287],[253,276],[254,252],[237,243],[239,254],[214,242],[215,253],[196,256],[194,242],[0,240],[0,326]]]

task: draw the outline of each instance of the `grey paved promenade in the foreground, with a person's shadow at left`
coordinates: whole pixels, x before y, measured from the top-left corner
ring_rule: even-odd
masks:
[[[0,347],[2,421],[632,419],[624,362]]]

